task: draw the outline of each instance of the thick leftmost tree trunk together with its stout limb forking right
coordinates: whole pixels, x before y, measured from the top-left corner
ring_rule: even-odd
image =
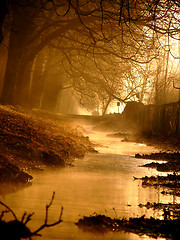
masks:
[[[46,11],[43,13],[41,9],[31,5],[29,9],[27,6],[20,6],[18,11],[13,12],[13,19],[16,29],[14,27],[14,31],[10,34],[1,101],[5,104],[25,105],[29,93],[33,61],[37,54],[51,39],[64,35],[69,29],[74,29],[75,24],[79,24],[79,20],[74,17],[66,18],[53,25],[54,21],[49,23],[50,18],[46,16]]]

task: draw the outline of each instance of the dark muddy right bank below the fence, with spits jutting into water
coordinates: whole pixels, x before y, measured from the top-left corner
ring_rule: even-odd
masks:
[[[180,171],[180,145],[176,136],[165,137],[159,134],[135,134],[126,132],[115,132],[108,134],[111,137],[121,138],[123,142],[143,143],[147,146],[154,146],[157,152],[151,154],[135,154],[135,158],[152,159],[156,162],[143,165],[143,167],[156,168],[161,172]],[[158,163],[157,161],[165,161]]]

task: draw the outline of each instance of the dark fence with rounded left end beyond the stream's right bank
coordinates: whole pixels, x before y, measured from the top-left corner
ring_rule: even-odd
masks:
[[[124,114],[142,132],[180,134],[180,101],[163,105],[129,102]]]

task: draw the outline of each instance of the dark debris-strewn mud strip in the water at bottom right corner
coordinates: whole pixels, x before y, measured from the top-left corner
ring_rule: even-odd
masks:
[[[129,219],[112,219],[98,214],[90,217],[84,216],[76,223],[78,227],[85,231],[126,231],[140,236],[147,235],[153,238],[163,237],[173,240],[179,239],[179,224],[179,219],[171,220],[164,218],[160,220],[153,217],[145,218],[144,216]]]

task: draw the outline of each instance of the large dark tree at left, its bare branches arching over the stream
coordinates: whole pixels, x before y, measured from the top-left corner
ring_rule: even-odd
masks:
[[[176,0],[21,0],[8,1],[9,11],[7,2],[3,3],[1,32],[10,10],[13,26],[1,96],[1,102],[5,104],[26,104],[38,53],[52,40],[61,42],[67,33],[77,31],[82,38],[78,41],[85,40],[82,37],[85,33],[93,54],[97,55],[100,49],[104,51],[105,46],[106,52],[113,52],[120,59],[142,62],[144,52],[152,50],[156,39],[160,41],[162,35],[177,38],[180,26],[179,2]],[[123,51],[117,51],[112,43],[113,46],[120,43]]]

